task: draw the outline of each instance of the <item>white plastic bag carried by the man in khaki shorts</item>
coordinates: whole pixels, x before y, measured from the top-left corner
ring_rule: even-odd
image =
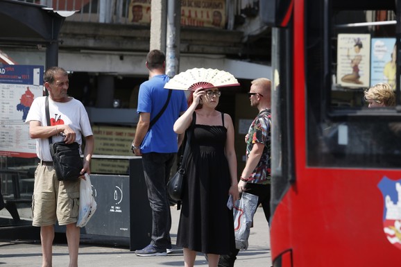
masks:
[[[85,179],[80,179],[79,186],[79,214],[76,226],[84,227],[96,211],[96,201],[92,192],[92,184],[89,174],[85,173]]]

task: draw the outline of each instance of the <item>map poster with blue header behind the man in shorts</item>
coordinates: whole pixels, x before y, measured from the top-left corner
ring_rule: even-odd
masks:
[[[33,99],[43,95],[43,66],[0,67],[0,155],[36,157],[25,123]]]

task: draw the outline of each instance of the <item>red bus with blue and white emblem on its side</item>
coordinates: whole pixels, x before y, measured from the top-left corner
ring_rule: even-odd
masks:
[[[272,27],[273,266],[400,266],[401,1],[260,8]],[[391,84],[395,107],[368,108],[376,83]]]

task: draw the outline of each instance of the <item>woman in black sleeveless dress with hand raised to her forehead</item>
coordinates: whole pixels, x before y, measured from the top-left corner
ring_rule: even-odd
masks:
[[[235,246],[232,210],[227,206],[230,195],[234,201],[239,197],[234,126],[230,115],[216,110],[220,96],[217,88],[196,89],[187,112],[174,124],[175,132],[187,135],[177,235],[185,267],[194,266],[196,252],[207,254],[209,266],[216,267],[219,255]]]

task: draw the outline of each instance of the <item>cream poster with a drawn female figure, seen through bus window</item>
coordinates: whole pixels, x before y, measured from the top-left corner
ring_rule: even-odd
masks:
[[[343,87],[369,87],[369,34],[340,33],[338,35],[337,83]]]

